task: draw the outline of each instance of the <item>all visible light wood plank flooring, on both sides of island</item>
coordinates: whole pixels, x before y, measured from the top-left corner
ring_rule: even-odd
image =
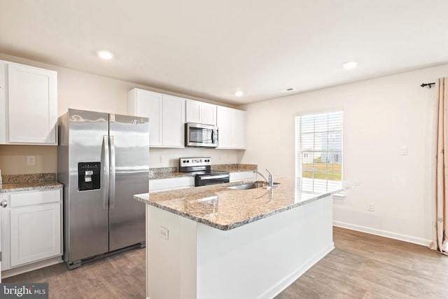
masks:
[[[333,235],[336,249],[276,299],[448,298],[448,256],[353,230],[334,228]],[[58,299],[145,298],[145,250],[71,271],[53,265],[3,282],[48,282],[50,298]]]

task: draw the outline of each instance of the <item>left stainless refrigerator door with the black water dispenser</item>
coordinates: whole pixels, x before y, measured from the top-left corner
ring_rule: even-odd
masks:
[[[107,162],[109,115],[69,109],[69,192],[64,197],[64,246],[66,263],[78,262],[109,251],[109,204],[107,196],[109,169]],[[78,163],[100,162],[101,187],[78,190]],[[67,186],[64,186],[67,188]]]

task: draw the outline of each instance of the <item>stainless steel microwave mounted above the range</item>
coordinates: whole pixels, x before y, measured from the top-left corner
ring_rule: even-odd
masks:
[[[186,123],[185,146],[216,148],[218,146],[218,127],[202,123]]]

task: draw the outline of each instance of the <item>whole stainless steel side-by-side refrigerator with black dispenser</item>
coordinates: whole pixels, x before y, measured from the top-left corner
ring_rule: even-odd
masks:
[[[148,193],[148,118],[69,109],[58,132],[67,267],[145,246],[145,206],[133,195]]]

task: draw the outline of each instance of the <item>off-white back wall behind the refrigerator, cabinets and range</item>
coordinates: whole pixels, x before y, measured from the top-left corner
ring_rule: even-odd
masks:
[[[127,114],[127,92],[132,90],[132,88],[142,88],[153,90],[155,92],[167,93],[169,95],[197,99],[203,102],[211,102],[207,101],[207,99],[187,97],[173,92],[157,90],[143,85],[88,74],[73,69],[66,69],[52,64],[43,64],[41,62],[25,60],[20,57],[4,55],[1,53],[0,60],[57,71],[58,116],[66,113],[69,108]],[[179,160],[176,159],[192,155],[210,155],[214,164],[237,163],[241,159],[241,153],[239,152],[241,151],[213,151],[205,150],[204,148],[158,148],[154,151],[150,151],[150,167],[179,166]],[[36,156],[36,165],[27,165],[28,155]],[[160,155],[166,155],[167,159],[165,159],[164,162],[160,162]],[[56,147],[0,145],[0,169],[2,174],[57,172]]]

